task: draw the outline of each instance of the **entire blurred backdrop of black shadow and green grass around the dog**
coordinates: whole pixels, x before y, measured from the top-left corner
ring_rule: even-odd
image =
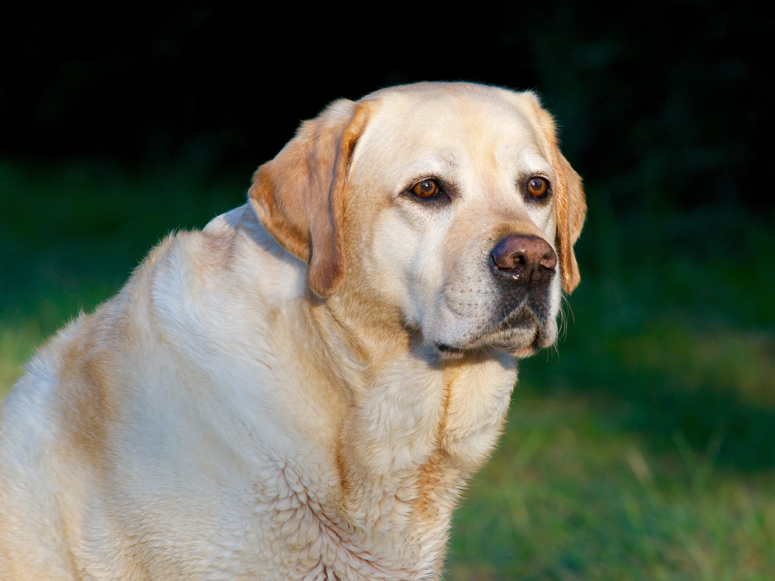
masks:
[[[580,287],[520,364],[449,579],[775,578],[772,12],[753,2],[222,3],[0,17],[0,398],[161,236],[243,203],[336,98],[543,96]]]

